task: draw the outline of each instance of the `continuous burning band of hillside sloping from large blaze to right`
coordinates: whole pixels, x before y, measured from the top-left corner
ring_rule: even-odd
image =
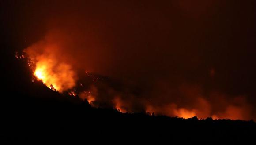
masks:
[[[203,96],[201,87],[188,84],[173,88],[164,88],[164,84],[161,84],[162,87],[158,84],[155,85],[154,91],[145,91],[142,87],[121,80],[75,69],[72,61],[63,59],[67,57],[61,52],[60,46],[49,44],[47,41],[40,41],[26,48],[21,56],[16,54],[16,58],[23,59],[25,56],[28,56],[28,65],[36,80],[42,81],[54,91],[86,99],[94,107],[183,118],[198,116],[214,119],[250,119],[251,107],[244,96],[228,99],[225,95],[215,92]],[[154,94],[157,91],[161,93]],[[166,95],[164,92],[174,98],[162,98],[161,95]]]

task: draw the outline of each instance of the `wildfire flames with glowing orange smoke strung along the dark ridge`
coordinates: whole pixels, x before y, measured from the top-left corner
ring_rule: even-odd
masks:
[[[38,47],[41,48],[41,51],[37,51]],[[86,71],[85,76],[89,77],[93,81],[93,83],[91,84],[90,88],[87,88],[86,91],[76,91],[75,84],[77,78],[75,70],[72,69],[71,61],[69,62],[61,57],[61,53],[58,51],[58,48],[59,46],[38,43],[27,48],[24,51],[24,54],[19,55],[18,53],[16,53],[15,57],[17,59],[25,59],[26,57],[29,58],[28,66],[30,66],[34,75],[32,82],[34,82],[35,80],[40,80],[51,90],[59,91],[60,93],[63,93],[64,91],[69,91],[68,94],[70,96],[77,96],[83,100],[86,99],[90,105],[98,107],[97,101],[100,101],[102,99],[99,98],[99,94],[101,92],[98,91],[101,90],[98,90],[97,85],[102,84],[102,78]],[[211,71],[211,74],[214,75],[214,70]],[[86,87],[86,83],[78,83],[78,85],[80,87]],[[131,103],[127,103],[128,99],[124,100],[124,97],[119,96],[121,93],[118,91],[116,92],[115,90],[113,91],[112,88],[108,89],[108,91],[106,92],[109,93],[109,96],[112,96],[111,100],[114,109],[117,109],[117,111],[123,113],[133,111],[131,105],[133,101],[129,100]],[[197,87],[196,89],[194,89],[194,87],[181,87],[181,90],[178,93],[182,93],[184,96],[188,96],[189,98],[194,97],[192,94],[201,94],[200,89],[197,89]],[[182,106],[182,108],[180,108],[175,103],[166,103],[166,105],[155,105],[154,103],[148,103],[150,105],[145,105],[145,112],[148,115],[153,115],[154,113],[156,115],[178,116],[185,119],[191,118],[193,116],[197,116],[200,119],[206,118],[207,116],[211,116],[213,119],[247,119],[250,117],[250,112],[248,112],[250,111],[250,108],[247,106],[247,101],[245,98],[242,97],[240,99],[234,99],[232,103],[236,105],[232,105],[229,104],[228,101],[225,101],[225,98],[227,97],[223,97],[223,95],[211,95],[213,95],[212,98],[216,98],[216,95],[217,97],[219,96],[219,98],[222,98],[224,100],[221,101],[223,104],[222,106],[226,105],[226,107],[224,107],[224,111],[213,112],[211,108],[213,108],[214,106],[211,106],[210,100],[200,98],[194,99],[195,101],[193,101],[193,103],[196,104],[196,106],[184,105]],[[143,102],[141,104],[143,105]]]

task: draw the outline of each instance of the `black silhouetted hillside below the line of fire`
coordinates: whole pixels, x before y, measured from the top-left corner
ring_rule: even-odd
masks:
[[[5,52],[1,89],[4,144],[254,144],[256,123],[198,120],[92,108],[87,101],[32,83],[24,61]]]

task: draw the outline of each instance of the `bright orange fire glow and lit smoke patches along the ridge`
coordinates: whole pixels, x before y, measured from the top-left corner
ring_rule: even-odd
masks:
[[[37,50],[38,48],[40,48],[40,51]],[[76,96],[75,93],[78,93],[77,96],[83,100],[86,99],[91,106],[100,107],[97,106],[100,104],[97,101],[105,100],[105,98],[100,98],[104,96],[99,95],[102,92],[98,92],[101,91],[101,89],[98,89],[97,84],[101,79],[86,71],[86,77],[90,77],[94,83],[91,84],[90,88],[87,88],[86,91],[71,91],[75,90],[76,73],[72,68],[72,61],[68,61],[70,58],[63,57],[59,49],[60,46],[58,45],[40,42],[27,48],[24,51],[27,55],[19,56],[18,53],[16,53],[15,57],[17,59],[22,59],[25,56],[28,56],[28,65],[35,76],[33,79],[36,78],[37,80],[41,80],[42,83],[51,90],[59,91],[61,93],[68,91],[67,93],[71,96]],[[214,69],[211,69],[210,75],[215,75]],[[32,80],[32,82],[34,82],[34,80]],[[78,85],[83,87],[86,86],[86,83],[79,83]],[[163,86],[162,84],[160,85]],[[175,102],[175,100],[168,100],[169,98],[166,98],[165,94],[163,94],[163,97],[159,98],[163,100],[153,99],[153,101],[147,102],[140,100],[137,96],[134,97],[134,94],[126,95],[126,92],[115,91],[107,84],[102,86],[106,87],[104,88],[107,90],[104,92],[107,93],[106,96],[110,96],[108,100],[109,104],[111,103],[112,107],[117,109],[118,112],[124,113],[136,111],[136,109],[133,108],[133,103],[136,102],[148,115],[153,115],[154,113],[155,115],[178,116],[185,119],[193,116],[197,116],[199,119],[211,116],[213,119],[229,118],[245,120],[250,119],[251,117],[251,109],[250,106],[248,106],[245,97],[228,99],[231,97],[214,92],[211,92],[209,97],[203,96],[203,89],[200,86],[184,84],[178,87],[177,92],[175,93],[184,96],[184,98],[188,99],[187,102],[191,102],[185,104],[183,104],[185,101]],[[158,88],[156,88],[156,90],[158,90]],[[164,90],[163,92],[166,91]],[[126,96],[120,96],[122,94],[125,94]],[[209,99],[207,99],[207,97]]]

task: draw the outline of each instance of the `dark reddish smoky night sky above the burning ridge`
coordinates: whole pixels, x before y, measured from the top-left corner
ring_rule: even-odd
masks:
[[[198,94],[212,106],[213,94],[222,94],[230,105],[243,96],[252,106],[250,116],[256,116],[255,0],[1,0],[0,5],[2,40],[10,51],[39,40],[58,43],[61,59],[148,89],[142,98],[156,105],[168,100],[187,106],[184,100]],[[184,93],[175,93],[179,90]]]

